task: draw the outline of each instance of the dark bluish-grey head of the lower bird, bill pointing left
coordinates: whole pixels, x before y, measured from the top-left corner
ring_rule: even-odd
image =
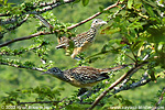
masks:
[[[59,68],[53,67],[53,68],[48,69],[47,72],[42,73],[42,75],[48,74],[48,75],[58,77],[63,72]]]

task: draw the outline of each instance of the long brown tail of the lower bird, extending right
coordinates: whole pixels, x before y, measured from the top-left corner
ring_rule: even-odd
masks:
[[[101,73],[110,73],[110,72],[120,70],[120,69],[123,69],[123,68],[125,68],[125,67],[128,67],[130,65],[134,65],[134,63],[133,64],[128,64],[128,65],[127,64],[119,65],[119,66],[116,66],[116,67],[112,67],[112,68],[102,68]]]

